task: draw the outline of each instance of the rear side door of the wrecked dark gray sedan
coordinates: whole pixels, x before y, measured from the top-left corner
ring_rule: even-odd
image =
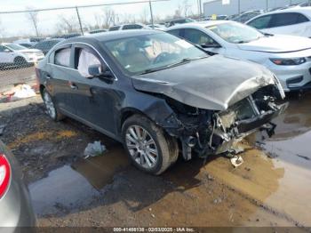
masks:
[[[76,114],[76,109],[71,98],[76,87],[71,85],[75,78],[73,69],[73,56],[70,45],[65,45],[52,52],[49,59],[50,67],[44,71],[45,86],[52,94],[52,99],[61,111]]]

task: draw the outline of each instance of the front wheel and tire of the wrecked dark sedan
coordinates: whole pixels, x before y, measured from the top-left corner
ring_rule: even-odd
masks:
[[[124,122],[122,137],[132,164],[143,172],[159,175],[177,160],[176,140],[145,116],[129,117]]]

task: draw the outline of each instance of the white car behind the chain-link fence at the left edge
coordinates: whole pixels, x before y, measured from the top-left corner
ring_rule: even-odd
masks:
[[[0,44],[0,64],[1,66],[32,65],[44,59],[44,53],[37,49],[28,49],[19,44]]]

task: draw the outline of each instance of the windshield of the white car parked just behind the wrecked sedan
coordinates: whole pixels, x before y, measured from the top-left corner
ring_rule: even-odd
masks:
[[[206,28],[227,42],[235,44],[251,42],[264,36],[258,30],[236,22],[226,22]]]

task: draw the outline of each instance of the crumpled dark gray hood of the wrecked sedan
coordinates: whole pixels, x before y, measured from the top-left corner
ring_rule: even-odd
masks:
[[[133,76],[132,84],[136,90],[161,93],[195,108],[225,110],[259,88],[275,84],[275,80],[275,76],[260,65],[215,55]]]

